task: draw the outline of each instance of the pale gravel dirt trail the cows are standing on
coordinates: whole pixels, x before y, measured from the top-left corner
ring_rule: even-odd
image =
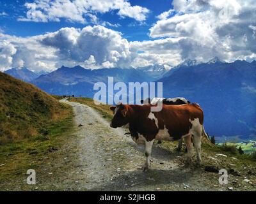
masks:
[[[144,147],[138,146],[122,128],[112,129],[100,114],[86,105],[63,100],[74,107],[79,140],[74,166],[76,184],[72,189],[107,191],[221,190],[218,174],[203,168],[185,168],[184,155],[154,145],[151,169],[141,171],[145,163]],[[175,147],[175,145],[173,145]],[[211,177],[209,177],[209,174]],[[77,176],[78,175],[78,176]],[[209,179],[210,178],[210,179]],[[71,186],[74,182],[71,182]],[[214,187],[213,185],[216,184]]]

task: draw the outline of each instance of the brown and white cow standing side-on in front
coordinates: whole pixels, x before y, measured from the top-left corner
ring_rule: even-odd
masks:
[[[201,163],[201,136],[204,113],[197,104],[179,106],[163,105],[160,112],[151,112],[153,105],[116,105],[111,106],[114,112],[111,128],[129,125],[132,140],[138,144],[145,144],[146,163],[143,171],[150,166],[150,155],[154,140],[180,140],[184,138],[188,149],[187,162],[192,161],[191,137],[197,154],[197,162]]]

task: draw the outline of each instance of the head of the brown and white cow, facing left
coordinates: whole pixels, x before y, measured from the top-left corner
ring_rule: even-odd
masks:
[[[111,121],[111,128],[118,128],[126,125],[129,122],[129,108],[128,105],[120,105],[111,106],[110,110],[113,111],[114,116]]]

